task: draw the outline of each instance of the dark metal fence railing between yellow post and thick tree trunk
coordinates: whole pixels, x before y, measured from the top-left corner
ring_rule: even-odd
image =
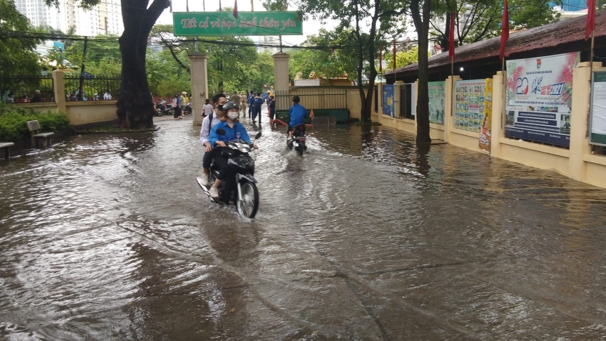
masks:
[[[103,101],[103,94],[106,90],[110,91],[112,99],[115,100],[120,93],[120,77],[85,77],[82,97],[79,96],[79,75],[65,75],[63,79],[65,80],[65,99],[67,101]]]

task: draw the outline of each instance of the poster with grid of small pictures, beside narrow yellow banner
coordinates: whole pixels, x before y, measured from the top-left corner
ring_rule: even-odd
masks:
[[[455,82],[455,128],[479,133],[484,122],[485,93],[485,79]]]

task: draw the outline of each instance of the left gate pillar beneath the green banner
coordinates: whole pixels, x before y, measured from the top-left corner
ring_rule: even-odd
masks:
[[[189,55],[193,125],[202,124],[200,113],[202,112],[206,98],[212,97],[208,93],[207,60],[208,56],[203,53],[192,53]]]

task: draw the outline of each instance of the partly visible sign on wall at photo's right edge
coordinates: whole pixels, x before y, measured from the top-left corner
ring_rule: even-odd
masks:
[[[606,72],[593,72],[591,79],[589,143],[606,146]]]

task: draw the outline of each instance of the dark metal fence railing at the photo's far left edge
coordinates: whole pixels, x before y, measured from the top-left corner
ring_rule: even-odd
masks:
[[[51,76],[16,76],[0,78],[1,101],[4,103],[27,103],[40,91],[42,102],[55,101],[55,89]]]

